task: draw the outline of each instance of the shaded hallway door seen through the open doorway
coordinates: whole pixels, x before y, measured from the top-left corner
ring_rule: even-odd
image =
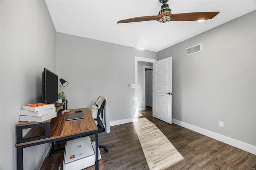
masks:
[[[145,71],[145,94],[146,94],[146,106],[152,107],[152,99],[153,99],[153,70]]]

